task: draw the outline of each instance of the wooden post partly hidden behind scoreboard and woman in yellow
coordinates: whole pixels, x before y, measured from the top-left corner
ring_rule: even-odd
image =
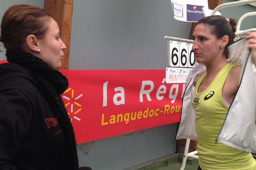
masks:
[[[222,1],[223,0],[208,0],[209,9],[213,10],[215,7],[222,4]],[[189,35],[190,40],[192,40],[192,34],[195,29],[195,26],[196,26],[196,23],[192,23],[191,31],[190,31],[190,35]],[[197,141],[190,140],[189,148],[191,148],[192,150],[196,150],[197,143],[198,143]],[[179,146],[185,147],[185,145],[186,145],[186,139],[177,140],[177,151],[178,151]]]

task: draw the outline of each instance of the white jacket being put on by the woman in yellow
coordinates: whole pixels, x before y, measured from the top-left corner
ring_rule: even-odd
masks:
[[[247,44],[247,40],[239,40],[228,47],[229,62],[241,65],[242,69],[238,91],[230,105],[217,141],[250,152],[252,148],[256,148],[256,83],[255,67],[251,62]],[[191,101],[194,95],[195,78],[205,69],[203,64],[197,63],[187,78],[176,139],[198,140],[195,130],[195,112]]]

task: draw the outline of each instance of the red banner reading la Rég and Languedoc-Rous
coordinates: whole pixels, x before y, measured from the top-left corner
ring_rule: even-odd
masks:
[[[165,70],[61,72],[78,144],[180,121],[185,84],[167,84]]]

